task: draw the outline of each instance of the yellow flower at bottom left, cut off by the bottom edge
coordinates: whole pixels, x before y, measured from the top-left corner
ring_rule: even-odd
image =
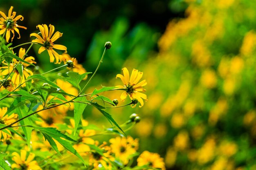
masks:
[[[15,162],[11,168],[18,168],[19,170],[42,170],[36,161],[33,161],[35,154],[29,153],[26,159],[27,152],[20,150],[20,155],[17,152],[12,153],[12,160]]]

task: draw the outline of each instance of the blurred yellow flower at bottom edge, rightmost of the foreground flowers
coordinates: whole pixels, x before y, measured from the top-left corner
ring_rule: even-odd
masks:
[[[139,155],[137,162],[138,166],[148,165],[152,168],[160,168],[161,170],[165,170],[164,159],[161,158],[159,154],[151,153],[148,152],[147,150],[142,152],[141,155]]]

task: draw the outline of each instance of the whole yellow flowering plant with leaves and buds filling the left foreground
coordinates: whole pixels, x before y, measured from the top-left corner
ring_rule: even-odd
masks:
[[[31,42],[12,46],[8,43],[20,32],[19,20],[13,7],[8,15],[0,11],[0,167],[4,170],[117,170],[117,169],[162,169],[164,161],[156,153],[144,152],[140,155],[139,139],[126,135],[126,131],[140,121],[133,113],[124,124],[119,125],[106,108],[144,105],[147,96],[143,86],[143,73],[134,69],[129,75],[117,74],[124,86],[95,88],[88,92],[88,84],[97,73],[105,53],[111,48],[106,42],[99,65],[90,76],[81,64],[67,54],[64,45],[55,44],[63,33],[55,32],[53,25],[37,25],[38,33],[31,33]],[[49,27],[49,28],[48,28]],[[26,45],[30,45],[25,49]],[[49,62],[62,64],[50,71],[38,73],[33,56],[29,56],[32,46],[40,46],[38,53],[47,50]],[[18,55],[16,51],[18,50]],[[56,51],[55,51],[56,50]],[[63,51],[59,54],[58,51]],[[51,77],[56,70],[66,71],[63,75]],[[83,82],[83,83],[82,83]],[[85,84],[85,85],[82,85]],[[103,92],[124,91],[130,102],[117,106],[118,99],[110,99]],[[105,93],[104,93],[105,94]],[[83,119],[86,106],[96,108],[112,126],[98,128]],[[72,117],[68,112],[73,112]],[[98,135],[115,135],[108,142],[99,142]],[[140,156],[139,156],[140,155]],[[153,156],[152,156],[153,155]],[[135,157],[137,164],[135,163]],[[155,158],[155,159],[152,159]]]

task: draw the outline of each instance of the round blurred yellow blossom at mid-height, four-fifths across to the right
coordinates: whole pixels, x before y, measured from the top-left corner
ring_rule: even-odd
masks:
[[[217,76],[213,70],[204,70],[200,79],[202,85],[206,88],[214,88],[217,84]]]

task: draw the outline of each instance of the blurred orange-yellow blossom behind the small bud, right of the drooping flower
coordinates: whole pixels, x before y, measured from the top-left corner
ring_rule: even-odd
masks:
[[[68,55],[67,53],[63,53],[61,55],[61,60],[66,64],[69,60],[71,60],[74,64],[74,66],[72,68],[69,68],[70,70],[76,72],[76,73],[79,73],[79,74],[83,74],[83,73],[86,73],[86,70],[85,68],[83,68],[83,65],[82,64],[78,64],[78,61],[76,60],[76,58],[71,58],[70,55]],[[84,78],[84,80],[87,79],[87,76]]]

